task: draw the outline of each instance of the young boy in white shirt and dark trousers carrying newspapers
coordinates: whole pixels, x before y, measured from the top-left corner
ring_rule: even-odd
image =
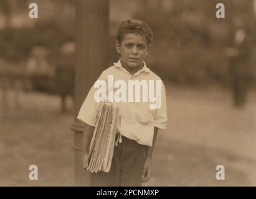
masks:
[[[121,122],[117,129],[120,136],[116,136],[119,137],[119,143],[114,147],[110,172],[90,173],[90,186],[141,186],[142,182],[151,177],[151,160],[158,129],[166,129],[167,122],[166,92],[163,82],[159,76],[146,67],[144,62],[152,41],[153,32],[145,22],[128,20],[121,23],[115,44],[116,51],[120,53],[121,58],[112,67],[103,71],[98,80],[106,81],[106,85],[109,85],[110,76],[113,76],[115,80],[122,80],[126,83],[123,83],[125,85],[130,85],[131,80],[134,80],[137,83],[143,82],[141,83],[143,88],[148,85],[149,90],[146,94],[141,90],[140,93],[138,91],[136,93],[136,90],[130,91],[128,86],[127,90],[126,87],[123,89],[127,91],[127,95],[124,95],[120,92],[115,93],[118,90],[116,84],[110,88],[115,99],[119,99],[113,100],[113,104],[120,109],[121,115]],[[158,81],[158,83],[160,81],[160,86],[158,86],[160,90],[152,88],[149,81]],[[119,86],[122,84],[120,83]],[[86,124],[82,147],[83,164],[88,160],[90,140],[100,108],[100,103],[95,101],[95,92],[97,92],[95,87],[97,86],[92,86],[77,117]],[[155,90],[157,98],[154,99],[156,99],[157,106],[152,108],[150,103],[153,98],[150,94]],[[150,102],[145,100],[148,97],[148,91]],[[134,93],[143,95],[143,101],[136,99],[134,102],[131,99]],[[123,101],[120,100],[120,95]],[[110,96],[110,93],[108,92],[106,96]]]

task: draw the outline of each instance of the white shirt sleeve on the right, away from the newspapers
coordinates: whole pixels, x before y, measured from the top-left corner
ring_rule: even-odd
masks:
[[[168,118],[166,107],[166,90],[163,81],[161,85],[161,96],[159,96],[161,98],[161,106],[156,109],[156,113],[154,114],[154,126],[158,127],[159,129],[166,129]]]

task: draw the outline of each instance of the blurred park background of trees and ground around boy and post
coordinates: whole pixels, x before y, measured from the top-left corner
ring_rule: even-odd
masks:
[[[0,185],[73,186],[75,0],[0,0]],[[148,186],[256,185],[256,1],[110,0],[110,67],[126,19],[145,21],[146,63],[166,85]],[[29,180],[29,165],[39,180]],[[216,180],[216,166],[225,180]]]

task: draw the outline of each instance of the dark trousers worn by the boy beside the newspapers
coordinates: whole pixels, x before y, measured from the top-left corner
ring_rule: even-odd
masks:
[[[89,186],[141,186],[146,146],[121,138],[122,142],[114,147],[110,172],[90,173]]]

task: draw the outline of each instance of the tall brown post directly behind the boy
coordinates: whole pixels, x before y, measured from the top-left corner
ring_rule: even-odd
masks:
[[[98,76],[107,67],[109,39],[108,0],[77,0],[77,64],[75,67],[75,186],[88,185],[88,174],[80,168],[84,125],[77,114]]]

